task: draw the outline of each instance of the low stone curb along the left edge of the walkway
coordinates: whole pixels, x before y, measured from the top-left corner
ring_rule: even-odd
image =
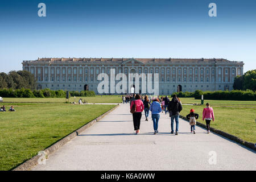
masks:
[[[85,125],[81,126],[76,131],[73,131],[71,134],[67,135],[66,137],[60,139],[58,142],[56,142],[52,146],[43,150],[43,152],[45,152],[46,156],[49,156],[49,155],[53,154],[53,152],[59,150],[60,147],[64,146],[64,144],[66,144],[67,142],[69,142],[73,138],[77,137],[77,135],[82,133],[84,130],[88,129],[88,127],[90,127],[90,126],[94,125],[96,122],[100,121],[100,119],[104,118],[105,115],[109,114],[111,111],[116,109],[118,106],[119,106],[119,104],[114,106],[112,109],[106,111],[106,113],[101,114],[96,119],[93,119],[92,121],[90,121],[90,122],[86,123]],[[40,155],[35,155],[31,159],[28,159],[26,162],[24,162],[24,163],[20,164],[19,166],[15,167],[12,171],[28,171],[32,167],[35,167],[36,165],[38,165],[38,159],[40,157],[41,157]]]

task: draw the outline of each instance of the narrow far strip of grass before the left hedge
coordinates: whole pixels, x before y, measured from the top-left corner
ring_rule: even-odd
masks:
[[[95,96],[95,97],[76,97],[76,102],[82,98],[89,103],[121,103],[122,96]],[[65,98],[3,98],[4,102],[45,102],[45,103],[64,103]],[[74,102],[75,98],[69,98],[69,102]],[[0,102],[1,104],[1,102]],[[3,103],[4,104],[4,103]]]

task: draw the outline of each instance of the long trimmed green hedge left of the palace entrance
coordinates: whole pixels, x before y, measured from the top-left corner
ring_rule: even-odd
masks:
[[[95,93],[93,91],[71,91],[71,96],[95,96]],[[64,90],[50,90],[50,89],[42,89],[42,90],[33,90],[30,89],[0,89],[0,97],[16,97],[16,98],[33,98],[33,97],[39,97],[39,98],[64,98],[66,96],[66,92]]]

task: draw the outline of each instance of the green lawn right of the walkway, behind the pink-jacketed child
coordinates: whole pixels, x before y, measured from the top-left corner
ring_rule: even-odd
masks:
[[[190,109],[195,109],[195,112],[200,115],[197,121],[205,124],[205,121],[202,121],[203,108],[204,106],[183,105],[180,114],[186,116]],[[210,122],[211,127],[240,137],[247,142],[256,143],[255,108],[213,106],[213,110],[215,121]]]

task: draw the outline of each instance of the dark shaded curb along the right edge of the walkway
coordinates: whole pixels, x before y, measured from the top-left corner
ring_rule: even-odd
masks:
[[[184,117],[183,115],[180,115],[180,118],[184,119],[185,121],[188,121],[188,119],[186,117]],[[189,122],[189,121],[188,121]],[[198,121],[196,121],[196,125],[199,125],[201,127],[204,127],[205,129],[207,129],[207,126],[204,125],[203,123],[200,123]],[[236,137],[232,134],[229,134],[229,133],[226,133],[224,131],[221,131],[221,130],[217,130],[217,129],[214,129],[214,127],[210,127],[210,131],[212,131],[213,133],[216,133],[216,134],[220,134],[222,135],[223,137],[226,137],[230,140],[233,140],[234,142],[237,142],[237,143],[240,143],[242,144],[243,146],[246,146],[248,148],[251,148],[253,149],[254,151],[256,151],[256,146],[254,143],[251,143],[251,142],[247,142],[239,137]]]

